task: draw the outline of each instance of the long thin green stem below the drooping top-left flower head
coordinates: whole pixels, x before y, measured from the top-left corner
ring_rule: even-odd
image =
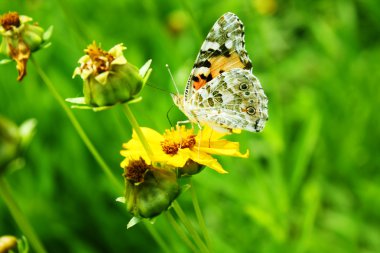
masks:
[[[92,144],[90,139],[88,138],[87,134],[83,130],[82,126],[78,122],[77,118],[75,117],[74,113],[71,111],[71,109],[67,106],[66,102],[63,100],[61,95],[58,93],[58,91],[55,89],[53,83],[50,81],[49,77],[45,74],[45,72],[40,68],[36,60],[31,57],[31,60],[37,70],[37,73],[40,75],[41,79],[44,81],[45,85],[48,87],[49,91],[52,93],[53,97],[57,100],[58,104],[62,107],[62,109],[65,111],[67,117],[73,124],[75,130],[77,131],[78,135],[88,148],[88,150],[91,152],[97,163],[102,168],[103,172],[108,176],[110,181],[114,184],[116,189],[118,191],[123,191],[124,187],[123,185],[116,179],[115,175],[112,174],[112,171],[110,167],[106,164],[106,162],[103,160],[95,146]]]

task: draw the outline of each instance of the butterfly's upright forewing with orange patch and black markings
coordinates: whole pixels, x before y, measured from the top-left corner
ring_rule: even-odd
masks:
[[[187,82],[184,102],[207,82],[234,68],[252,69],[244,45],[244,26],[233,13],[225,13],[211,28]]]

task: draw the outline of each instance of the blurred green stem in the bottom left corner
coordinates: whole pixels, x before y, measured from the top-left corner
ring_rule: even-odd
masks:
[[[21,229],[22,233],[28,238],[28,241],[37,253],[46,253],[44,246],[35,233],[34,229],[28,222],[27,218],[22,213],[21,209],[13,199],[10,187],[5,178],[0,176],[0,195],[4,199],[13,219]]]

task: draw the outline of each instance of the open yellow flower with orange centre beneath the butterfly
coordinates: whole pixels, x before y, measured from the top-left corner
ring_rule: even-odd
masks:
[[[211,155],[225,155],[247,158],[245,154],[239,152],[239,143],[220,139],[225,134],[213,131],[210,127],[205,127],[194,134],[193,129],[186,129],[185,126],[176,126],[166,130],[163,135],[150,128],[141,128],[145,138],[148,140],[153,150],[152,159],[144,150],[143,145],[133,132],[132,139],[123,144],[120,153],[124,157],[121,167],[128,166],[130,160],[144,159],[147,164],[162,163],[176,168],[183,168],[186,164],[194,161],[200,165],[205,165],[219,173],[227,173],[217,159]],[[152,161],[153,160],[153,161]]]

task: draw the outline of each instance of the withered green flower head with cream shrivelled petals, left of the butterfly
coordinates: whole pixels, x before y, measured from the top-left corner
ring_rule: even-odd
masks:
[[[138,100],[138,93],[144,87],[151,69],[148,61],[140,70],[127,62],[123,55],[126,48],[118,44],[108,52],[95,42],[85,49],[86,55],[79,59],[80,67],[73,77],[83,79],[84,98],[66,99],[86,106],[82,109],[102,110],[118,103]]]

